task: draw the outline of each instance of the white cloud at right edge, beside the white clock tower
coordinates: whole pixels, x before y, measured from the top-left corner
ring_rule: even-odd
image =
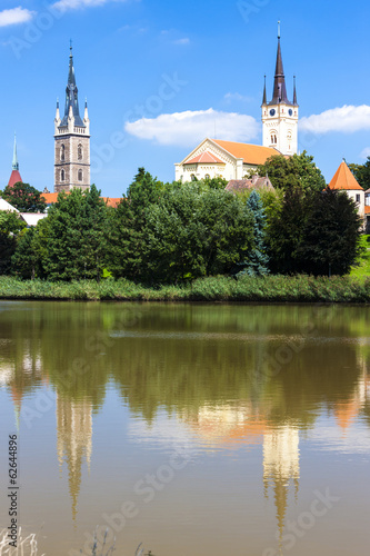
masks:
[[[302,118],[299,121],[300,131],[322,135],[330,131],[352,133],[370,129],[370,106],[347,106],[332,108],[324,112]]]

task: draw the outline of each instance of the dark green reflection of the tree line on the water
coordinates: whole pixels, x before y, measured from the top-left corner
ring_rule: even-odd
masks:
[[[351,398],[361,373],[354,340],[370,318],[366,308],[338,306],[13,307],[1,314],[0,338],[10,342],[2,364],[14,365],[20,395],[40,386],[42,368],[60,395],[88,398],[94,410],[113,378],[131,410],[148,420],[162,407],[197,415],[231,400],[248,401],[271,423],[288,418],[300,426],[310,426],[322,405],[331,409]],[[271,376],[267,361],[289,345],[291,361]],[[28,374],[24,355],[33,361]]]

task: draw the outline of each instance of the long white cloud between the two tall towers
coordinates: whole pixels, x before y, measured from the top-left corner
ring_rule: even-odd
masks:
[[[149,139],[159,145],[191,147],[206,137],[229,141],[254,139],[260,125],[251,116],[208,110],[162,113],[157,118],[126,122],[128,133],[139,139]]]

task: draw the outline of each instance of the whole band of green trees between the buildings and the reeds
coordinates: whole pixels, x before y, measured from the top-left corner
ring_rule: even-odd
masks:
[[[32,228],[0,215],[0,272],[151,286],[216,275],[347,274],[360,254],[356,203],[326,189],[306,152],[272,157],[259,173],[274,191],[234,195],[221,178],[163,183],[140,168],[117,208],[92,186],[60,193]]]

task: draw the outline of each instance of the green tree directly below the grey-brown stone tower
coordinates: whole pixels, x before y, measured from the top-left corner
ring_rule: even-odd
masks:
[[[100,191],[60,193],[49,209],[42,268],[51,280],[100,280],[107,252],[108,211]]]

